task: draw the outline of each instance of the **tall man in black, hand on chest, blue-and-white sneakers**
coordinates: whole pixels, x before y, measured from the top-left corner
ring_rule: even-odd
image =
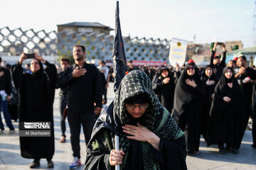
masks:
[[[75,64],[65,69],[59,86],[68,86],[68,123],[70,125],[73,162],[70,169],[80,166],[80,128],[82,124],[86,144],[90,140],[95,115],[102,110],[100,73],[85,62],[85,47],[73,47]],[[95,114],[94,114],[95,113]]]

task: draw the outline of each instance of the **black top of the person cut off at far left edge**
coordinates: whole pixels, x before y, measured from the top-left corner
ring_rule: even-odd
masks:
[[[0,91],[4,90],[6,94],[11,95],[11,74],[9,69],[0,67]]]

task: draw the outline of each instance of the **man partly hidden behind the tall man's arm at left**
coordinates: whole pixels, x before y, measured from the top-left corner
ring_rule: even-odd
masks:
[[[63,57],[60,60],[60,67],[61,67],[61,72],[58,74],[58,79],[60,79],[60,77],[63,75],[64,71],[66,68],[68,68],[70,66],[70,61],[67,57]],[[59,86],[57,84],[56,89],[58,89]],[[63,86],[62,88],[60,88],[60,128],[61,128],[61,132],[62,135],[60,137],[59,142],[65,142],[65,115],[64,111],[66,106],[68,106],[68,86]],[[64,118],[63,118],[64,117]]]

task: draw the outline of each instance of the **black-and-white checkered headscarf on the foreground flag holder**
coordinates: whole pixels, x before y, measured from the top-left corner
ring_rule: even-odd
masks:
[[[130,124],[129,113],[127,113],[124,107],[125,101],[139,94],[145,94],[150,101],[149,108],[143,115],[144,126],[160,138],[174,140],[179,128],[170,113],[166,111],[154,94],[149,77],[140,70],[129,72],[129,74],[122,79],[116,97],[114,98],[114,114],[119,118],[120,125]],[[164,111],[166,111],[167,116],[166,122],[159,128],[161,119],[164,116]],[[129,151],[129,139],[127,139],[126,136],[127,134],[125,133],[119,133],[119,148],[123,149],[124,153],[127,154]],[[143,154],[144,166],[148,166],[148,169],[151,169],[152,164],[146,161],[146,157],[149,157],[149,155]],[[156,167],[159,166],[156,165]]]

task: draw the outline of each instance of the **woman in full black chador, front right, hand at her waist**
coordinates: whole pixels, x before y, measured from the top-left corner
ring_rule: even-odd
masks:
[[[220,153],[226,149],[238,154],[242,136],[245,132],[245,103],[238,81],[232,69],[225,67],[223,76],[215,86],[213,103],[207,133],[207,145],[218,144]]]

